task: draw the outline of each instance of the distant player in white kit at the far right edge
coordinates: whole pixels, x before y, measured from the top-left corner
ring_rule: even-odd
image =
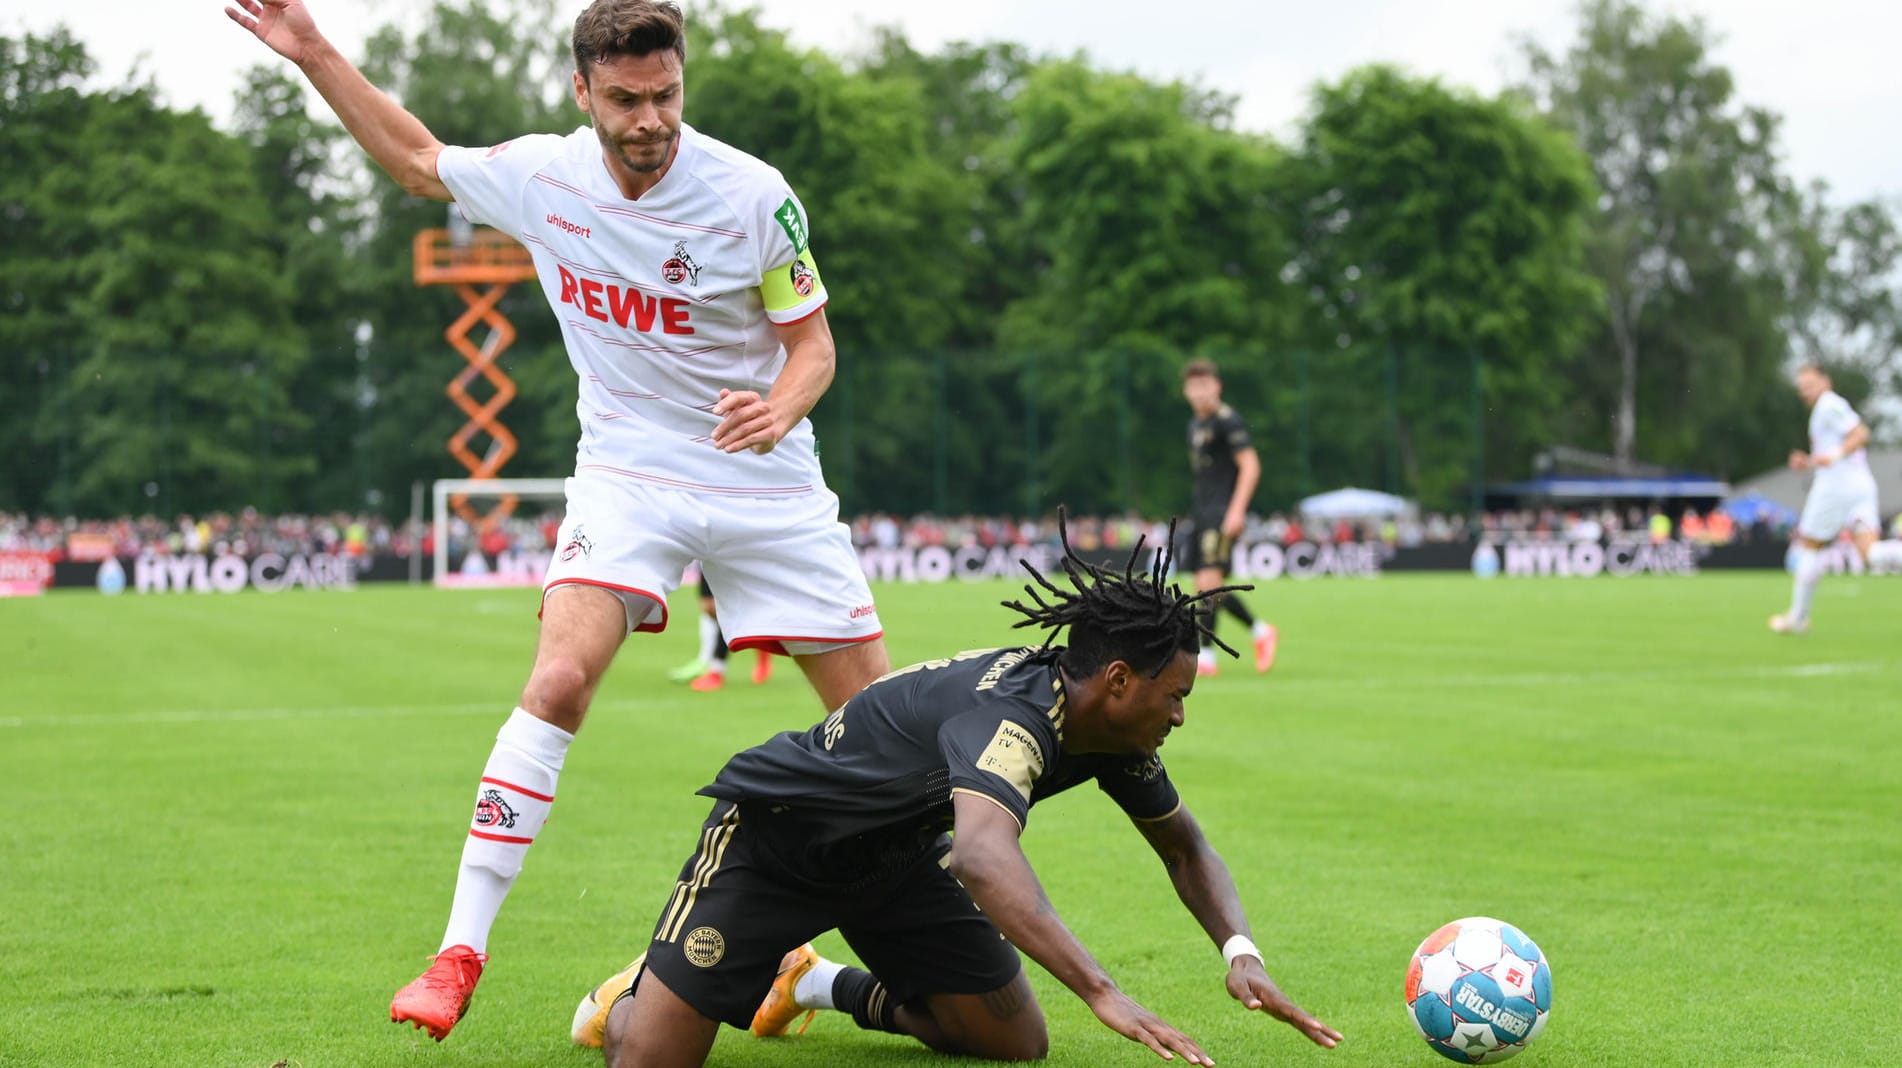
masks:
[[[1883,542],[1881,517],[1875,511],[1875,473],[1870,471],[1870,428],[1832,390],[1830,374],[1815,363],[1795,372],[1795,391],[1809,405],[1809,452],[1790,452],[1790,469],[1815,471],[1803,515],[1795,521],[1794,570],[1790,610],[1771,616],[1771,629],[1780,635],[1809,631],[1809,602],[1822,580],[1824,545],[1849,530],[1851,542],[1864,563],[1887,570],[1902,559],[1902,544]],[[1872,559],[1873,557],[1873,559]]]

